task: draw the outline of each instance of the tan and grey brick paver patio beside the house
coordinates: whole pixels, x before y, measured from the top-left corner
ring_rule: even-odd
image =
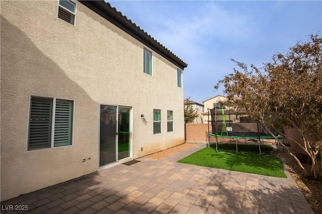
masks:
[[[277,178],[176,162],[204,147],[21,195],[3,201],[1,213],[314,213],[287,171]]]

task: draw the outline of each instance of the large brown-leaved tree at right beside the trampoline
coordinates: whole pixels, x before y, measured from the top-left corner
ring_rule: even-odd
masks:
[[[231,60],[241,71],[234,68],[234,73],[215,85],[216,89],[224,85],[225,104],[244,110],[267,129],[298,130],[304,145],[295,143],[310,156],[311,170],[284,148],[306,175],[322,177],[322,38],[310,35],[307,42],[297,42],[286,55],[273,55],[262,68],[251,65],[249,69],[245,63]]]

